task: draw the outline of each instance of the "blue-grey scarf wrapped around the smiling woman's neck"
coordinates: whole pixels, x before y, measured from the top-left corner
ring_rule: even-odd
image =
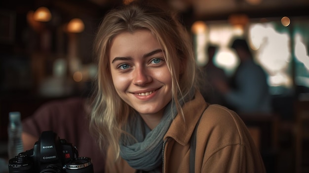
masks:
[[[189,101],[189,98],[191,100],[193,93],[194,91],[190,92],[190,97],[180,100],[180,104],[183,105],[184,102]],[[120,156],[136,170],[149,173],[161,172],[159,166],[162,164],[163,137],[176,115],[176,105],[170,102],[164,110],[160,123],[153,130],[146,125],[141,116],[138,114],[132,116],[126,131],[135,139],[125,135],[121,137]]]

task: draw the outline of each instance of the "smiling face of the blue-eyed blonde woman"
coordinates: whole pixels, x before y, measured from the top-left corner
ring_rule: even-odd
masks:
[[[172,99],[172,78],[154,35],[146,30],[117,35],[109,61],[120,98],[141,115],[161,118]]]

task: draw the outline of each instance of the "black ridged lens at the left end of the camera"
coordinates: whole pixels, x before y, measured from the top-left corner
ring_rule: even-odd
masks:
[[[24,152],[8,161],[9,173],[33,173],[33,162]]]

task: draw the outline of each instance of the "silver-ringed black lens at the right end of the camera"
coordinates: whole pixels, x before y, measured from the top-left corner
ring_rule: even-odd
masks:
[[[67,173],[93,173],[93,165],[89,157],[78,157],[66,164]]]

